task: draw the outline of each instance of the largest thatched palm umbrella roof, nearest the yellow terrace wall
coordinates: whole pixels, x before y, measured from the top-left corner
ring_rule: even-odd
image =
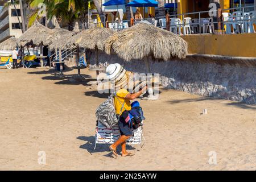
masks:
[[[184,39],[146,23],[138,23],[107,39],[106,53],[110,54],[112,49],[126,61],[148,56],[166,61],[173,57],[184,58],[188,53],[188,45]]]

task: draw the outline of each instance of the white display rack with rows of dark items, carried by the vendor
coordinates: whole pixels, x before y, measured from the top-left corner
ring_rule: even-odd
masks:
[[[142,144],[142,126],[139,127],[137,130],[133,131],[133,137],[129,138],[126,143],[127,144]],[[118,140],[120,137],[120,131],[118,125],[115,125],[112,129],[106,127],[105,125],[102,125],[101,122],[96,122],[96,134],[95,134],[95,146],[94,149],[96,149],[97,144],[112,144]],[[143,137],[144,139],[144,137]],[[145,139],[144,139],[145,141]]]

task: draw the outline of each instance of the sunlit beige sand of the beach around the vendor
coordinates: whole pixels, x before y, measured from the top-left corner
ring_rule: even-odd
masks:
[[[82,75],[96,77],[88,69]],[[107,96],[96,86],[47,69],[0,69],[0,90],[1,170],[256,170],[252,105],[161,89],[159,100],[140,101],[144,146],[113,159],[106,144],[93,151],[95,110]],[[203,109],[208,114],[200,115]],[[39,151],[46,165],[38,163]],[[210,151],[216,165],[208,162]]]

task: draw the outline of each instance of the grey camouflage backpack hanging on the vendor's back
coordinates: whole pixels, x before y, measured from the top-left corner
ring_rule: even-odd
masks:
[[[111,94],[108,100],[102,102],[101,105],[99,105],[96,109],[96,117],[98,121],[100,121],[102,125],[105,125],[106,127],[113,127],[118,123],[113,101],[114,96],[115,94]]]

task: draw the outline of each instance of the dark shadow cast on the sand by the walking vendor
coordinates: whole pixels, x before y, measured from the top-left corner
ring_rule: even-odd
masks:
[[[83,141],[86,142],[85,144],[82,144],[79,148],[87,150],[88,152],[90,152],[90,154],[97,153],[97,152],[106,152],[106,151],[108,151],[109,154],[106,154],[104,156],[106,156],[106,157],[111,157],[112,156],[112,152],[110,152],[108,144],[97,144],[96,149],[93,150],[94,146],[95,146],[95,136],[90,136],[90,137],[80,136],[80,137],[77,137],[77,139],[83,140]],[[126,149],[127,150],[135,150],[134,147],[132,147],[130,145],[127,145],[127,144],[126,144]],[[118,146],[118,148],[117,148],[117,152],[118,151],[121,151],[120,146]]]

